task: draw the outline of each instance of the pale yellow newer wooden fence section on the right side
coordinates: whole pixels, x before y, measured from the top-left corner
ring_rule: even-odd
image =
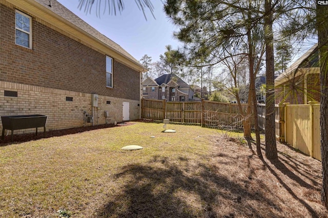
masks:
[[[260,128],[265,130],[265,105],[258,105]],[[320,104],[276,105],[276,138],[321,161]],[[263,121],[264,119],[264,121]]]

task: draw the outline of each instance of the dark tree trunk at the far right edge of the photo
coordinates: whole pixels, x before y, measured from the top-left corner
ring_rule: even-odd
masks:
[[[322,190],[321,201],[328,209],[328,7],[317,5],[317,29],[320,56],[320,131]]]

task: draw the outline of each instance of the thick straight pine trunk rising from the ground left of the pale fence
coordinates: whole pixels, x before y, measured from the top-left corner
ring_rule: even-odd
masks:
[[[272,31],[272,4],[265,0],[264,40],[265,40],[265,74],[267,86],[265,88],[265,155],[269,160],[278,158],[275,128],[275,87],[274,87],[274,51]]]

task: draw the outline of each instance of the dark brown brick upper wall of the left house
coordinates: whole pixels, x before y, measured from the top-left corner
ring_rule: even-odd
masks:
[[[113,88],[107,88],[106,54],[37,22],[33,14],[32,49],[15,45],[15,9],[0,4],[0,15],[0,81],[139,100],[139,72],[114,60]]]

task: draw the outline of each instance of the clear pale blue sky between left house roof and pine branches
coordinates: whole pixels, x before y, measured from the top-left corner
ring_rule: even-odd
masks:
[[[100,33],[112,39],[115,43],[124,48],[138,61],[147,54],[152,57],[153,62],[159,60],[159,55],[163,54],[166,45],[172,45],[174,49],[180,44],[173,38],[175,26],[163,12],[163,5],[160,0],[152,1],[154,15],[147,9],[147,21],[142,11],[140,11],[133,0],[126,0],[124,11],[116,16],[109,15],[108,11],[100,17],[96,16],[95,7],[92,13],[86,14],[84,10],[78,9],[78,0],[57,0],[70,11],[75,13]],[[102,2],[105,4],[105,1]]]

